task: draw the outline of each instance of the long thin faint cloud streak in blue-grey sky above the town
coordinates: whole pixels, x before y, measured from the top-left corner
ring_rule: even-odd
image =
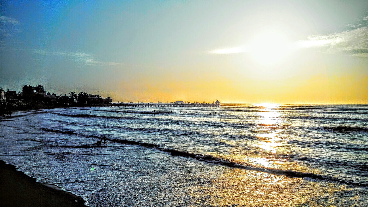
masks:
[[[88,53],[83,53],[83,52],[53,52],[53,51],[45,51],[45,50],[40,50],[40,49],[36,49],[32,51],[33,53],[36,53],[42,56],[54,56],[55,58],[68,59],[68,60],[72,60],[75,62],[79,62],[84,65],[89,65],[89,66],[119,66],[120,65],[120,66],[135,66],[135,67],[148,67],[148,68],[162,69],[161,67],[99,61],[98,56],[91,55]]]

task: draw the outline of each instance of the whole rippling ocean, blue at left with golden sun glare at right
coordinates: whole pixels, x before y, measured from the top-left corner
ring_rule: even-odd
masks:
[[[61,108],[0,123],[0,159],[89,206],[368,206],[368,105]]]

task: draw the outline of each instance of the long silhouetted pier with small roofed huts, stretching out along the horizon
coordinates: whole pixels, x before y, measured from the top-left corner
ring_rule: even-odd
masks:
[[[110,107],[220,107],[220,103],[112,103]]]

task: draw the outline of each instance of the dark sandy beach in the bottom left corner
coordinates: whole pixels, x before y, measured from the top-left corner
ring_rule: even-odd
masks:
[[[36,182],[35,178],[17,171],[0,160],[0,206],[84,206],[84,200],[54,185]]]

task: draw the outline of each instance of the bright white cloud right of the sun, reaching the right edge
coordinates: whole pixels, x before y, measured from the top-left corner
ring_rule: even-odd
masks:
[[[368,16],[361,24],[353,25],[353,30],[328,35],[311,35],[307,40],[298,41],[301,48],[323,48],[327,53],[346,53],[352,56],[368,57]]]

